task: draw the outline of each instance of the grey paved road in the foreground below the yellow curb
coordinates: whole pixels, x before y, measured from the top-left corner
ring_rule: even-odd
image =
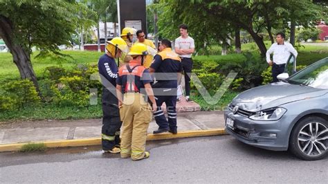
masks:
[[[0,154],[1,183],[328,183],[328,158],[298,160],[230,136],[149,142],[151,157],[133,162],[100,147],[44,154]]]

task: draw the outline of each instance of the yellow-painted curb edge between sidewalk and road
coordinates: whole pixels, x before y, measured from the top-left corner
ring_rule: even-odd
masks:
[[[208,129],[208,130],[192,130],[192,131],[181,131],[178,134],[148,134],[147,140],[166,140],[174,138],[191,138],[191,137],[202,137],[202,136],[222,136],[226,135],[224,128],[219,129]],[[25,142],[25,143],[13,143],[0,145],[0,152],[5,151],[19,151],[23,145],[30,143],[44,143],[48,148],[55,147],[82,147],[82,146],[93,146],[101,145],[101,138],[84,138],[84,139],[75,139],[75,140],[50,140],[44,142]]]

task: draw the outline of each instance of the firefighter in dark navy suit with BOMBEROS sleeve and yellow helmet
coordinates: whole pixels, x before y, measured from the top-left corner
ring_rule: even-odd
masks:
[[[107,42],[107,53],[100,57],[98,69],[102,80],[102,149],[112,154],[120,153],[120,113],[116,98],[116,78],[118,66],[115,58],[126,52],[127,44],[120,37]]]

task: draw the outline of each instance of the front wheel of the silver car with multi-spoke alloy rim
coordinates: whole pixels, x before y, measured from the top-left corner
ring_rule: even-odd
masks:
[[[303,160],[319,160],[328,154],[327,120],[309,116],[298,122],[289,139],[290,151]]]

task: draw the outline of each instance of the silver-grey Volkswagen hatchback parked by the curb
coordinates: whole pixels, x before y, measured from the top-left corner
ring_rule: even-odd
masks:
[[[225,112],[226,131],[248,145],[318,160],[328,151],[328,57],[280,82],[237,95]]]

